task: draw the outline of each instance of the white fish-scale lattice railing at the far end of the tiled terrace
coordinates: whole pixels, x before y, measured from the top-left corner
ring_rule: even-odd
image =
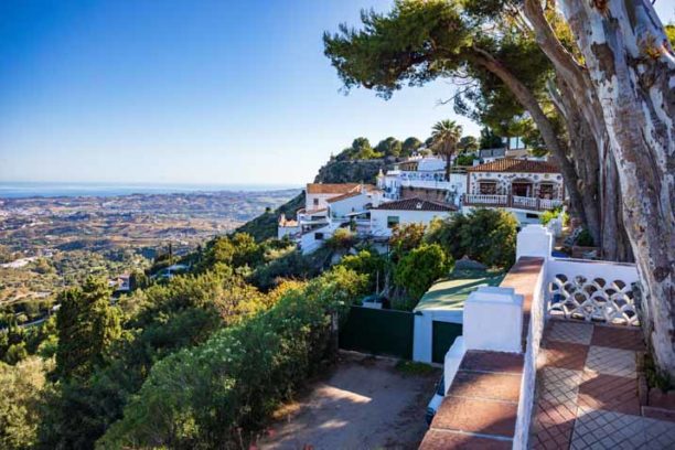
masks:
[[[550,258],[547,310],[553,317],[640,325],[632,264]]]

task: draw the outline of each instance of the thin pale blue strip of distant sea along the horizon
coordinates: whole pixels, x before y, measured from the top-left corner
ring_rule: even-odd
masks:
[[[38,183],[0,182],[0,199],[56,196],[115,196],[191,192],[260,192],[300,189],[292,184],[152,184],[152,183]]]

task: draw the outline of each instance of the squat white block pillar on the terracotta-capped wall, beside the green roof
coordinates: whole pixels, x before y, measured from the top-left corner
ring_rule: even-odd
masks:
[[[464,303],[467,350],[521,353],[523,296],[513,288],[481,287]]]

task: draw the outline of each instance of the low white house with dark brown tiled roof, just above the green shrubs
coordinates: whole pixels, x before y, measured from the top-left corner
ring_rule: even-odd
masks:
[[[448,217],[457,207],[424,199],[405,199],[383,203],[371,210],[371,234],[389,237],[403,224],[429,225],[435,218]]]

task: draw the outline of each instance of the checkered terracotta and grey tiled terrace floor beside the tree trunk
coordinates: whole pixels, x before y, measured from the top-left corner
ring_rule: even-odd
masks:
[[[550,320],[537,372],[532,447],[675,448],[675,420],[649,417],[654,415],[641,401],[643,352],[640,330]]]

